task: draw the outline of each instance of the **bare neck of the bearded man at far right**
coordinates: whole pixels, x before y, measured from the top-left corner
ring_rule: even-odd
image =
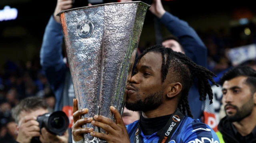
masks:
[[[236,127],[236,130],[242,135],[246,136],[252,132],[256,126],[256,110],[252,111],[252,114],[239,122],[233,122],[233,125]]]

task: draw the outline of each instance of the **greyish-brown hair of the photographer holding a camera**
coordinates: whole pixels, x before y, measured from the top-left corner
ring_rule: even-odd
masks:
[[[18,124],[20,112],[31,112],[38,109],[47,109],[48,106],[43,98],[40,97],[28,97],[20,101],[20,103],[12,110],[12,117]]]

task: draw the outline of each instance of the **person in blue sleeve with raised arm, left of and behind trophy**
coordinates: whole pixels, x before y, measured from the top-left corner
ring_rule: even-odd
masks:
[[[72,0],[58,0],[54,14],[46,26],[40,51],[40,64],[55,95],[54,111],[62,110],[70,119],[72,127],[72,100],[75,98],[73,82],[68,63],[62,55],[63,32],[60,17],[62,10],[72,8]],[[47,98],[47,97],[46,97]],[[51,104],[48,102],[48,104]],[[70,136],[69,142],[72,142]]]

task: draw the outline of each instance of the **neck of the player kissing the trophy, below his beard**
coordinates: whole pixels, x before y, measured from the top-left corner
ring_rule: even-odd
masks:
[[[144,118],[156,118],[160,116],[170,115],[175,112],[177,108],[176,104],[163,103],[158,108],[147,112],[142,112]]]

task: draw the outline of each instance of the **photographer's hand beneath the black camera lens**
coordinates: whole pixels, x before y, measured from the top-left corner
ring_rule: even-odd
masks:
[[[43,127],[41,129],[40,141],[42,143],[68,143],[68,130],[62,136],[52,135]]]

